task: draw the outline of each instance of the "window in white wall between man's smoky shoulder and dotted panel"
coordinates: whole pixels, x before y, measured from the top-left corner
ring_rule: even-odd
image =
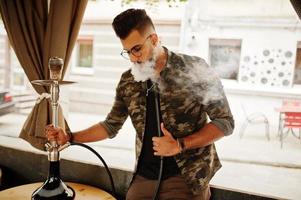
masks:
[[[241,40],[209,39],[210,65],[220,78],[237,79]]]

